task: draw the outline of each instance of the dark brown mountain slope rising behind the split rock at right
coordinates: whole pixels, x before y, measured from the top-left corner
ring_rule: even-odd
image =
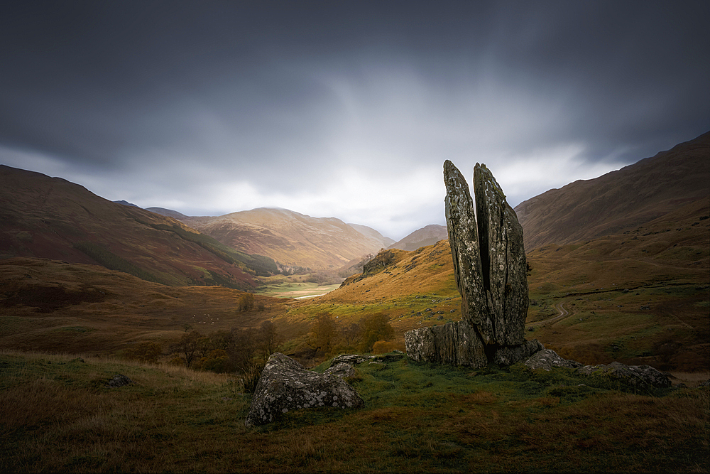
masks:
[[[620,234],[710,196],[710,132],[618,171],[520,203],[525,249]]]

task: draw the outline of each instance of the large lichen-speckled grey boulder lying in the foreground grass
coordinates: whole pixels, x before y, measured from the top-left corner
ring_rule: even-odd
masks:
[[[360,408],[364,402],[341,377],[311,372],[276,352],[261,372],[246,426],[268,424],[290,410],[318,406]]]

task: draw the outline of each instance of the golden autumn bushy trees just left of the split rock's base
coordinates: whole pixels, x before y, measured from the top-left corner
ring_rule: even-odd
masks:
[[[373,313],[359,323],[338,325],[331,313],[319,313],[311,325],[307,344],[317,356],[341,352],[372,352],[378,342],[394,338],[395,331],[384,313]]]

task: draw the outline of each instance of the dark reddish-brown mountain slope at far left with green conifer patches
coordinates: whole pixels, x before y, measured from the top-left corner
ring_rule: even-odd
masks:
[[[170,285],[255,285],[236,252],[170,217],[0,166],[0,258],[10,257],[101,264]]]

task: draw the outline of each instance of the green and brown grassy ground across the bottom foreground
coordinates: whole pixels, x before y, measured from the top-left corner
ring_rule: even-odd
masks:
[[[323,370],[318,367],[316,370]],[[116,374],[133,384],[107,388]],[[630,393],[523,366],[364,363],[359,411],[291,411],[246,429],[229,375],[0,354],[0,470],[707,472],[709,388]]]

